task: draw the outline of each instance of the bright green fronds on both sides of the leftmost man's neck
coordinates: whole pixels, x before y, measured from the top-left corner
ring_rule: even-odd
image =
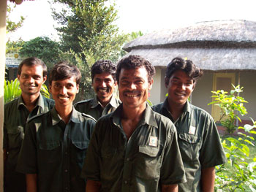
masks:
[[[42,85],[40,93],[42,96],[50,98],[50,93],[48,92],[48,88],[45,84]],[[4,104],[17,98],[20,94],[20,82],[17,78],[11,81],[4,80]]]

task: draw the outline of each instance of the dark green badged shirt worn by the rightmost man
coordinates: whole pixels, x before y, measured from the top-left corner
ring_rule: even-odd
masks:
[[[173,121],[168,110],[167,99],[154,106],[153,110]],[[174,124],[178,132],[178,145],[187,177],[187,183],[179,184],[178,191],[202,191],[201,170],[225,164],[227,161],[217,126],[208,112],[189,102]]]

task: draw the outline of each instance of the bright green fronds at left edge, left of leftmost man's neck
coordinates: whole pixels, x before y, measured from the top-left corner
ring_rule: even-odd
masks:
[[[20,82],[18,79],[11,82],[4,80],[4,104],[12,101],[16,97],[20,96],[20,94]]]

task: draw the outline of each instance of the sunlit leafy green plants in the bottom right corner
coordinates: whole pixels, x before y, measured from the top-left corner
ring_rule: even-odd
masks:
[[[253,126],[239,127],[246,134],[241,137],[228,137],[222,145],[225,148],[227,164],[217,166],[215,191],[256,191],[256,155],[250,154],[250,147],[255,147],[256,121]]]

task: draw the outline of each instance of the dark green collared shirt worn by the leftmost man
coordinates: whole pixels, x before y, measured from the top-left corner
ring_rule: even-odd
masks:
[[[4,149],[7,150],[7,166],[11,169],[15,170],[17,164],[27,120],[34,115],[48,112],[53,106],[54,101],[41,94],[31,112],[26,108],[21,96],[4,105]]]

